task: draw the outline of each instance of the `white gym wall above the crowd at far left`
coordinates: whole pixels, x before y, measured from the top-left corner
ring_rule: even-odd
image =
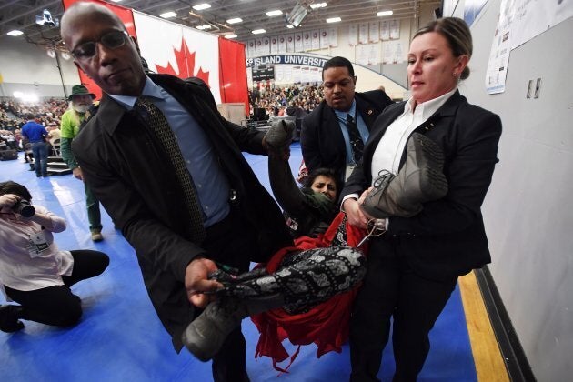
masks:
[[[79,85],[79,75],[72,60],[60,58],[64,84],[69,89]],[[12,96],[15,91],[34,93],[40,97],[64,97],[64,86],[55,58],[45,50],[27,43],[24,35],[0,35],[0,96]]]

